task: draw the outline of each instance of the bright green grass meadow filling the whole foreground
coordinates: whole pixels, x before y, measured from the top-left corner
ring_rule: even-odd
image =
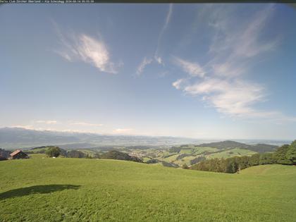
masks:
[[[295,221],[296,167],[226,174],[128,161],[0,162],[0,221]]]

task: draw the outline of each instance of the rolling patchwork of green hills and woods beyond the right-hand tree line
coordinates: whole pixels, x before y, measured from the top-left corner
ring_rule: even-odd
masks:
[[[277,147],[271,144],[244,144],[235,141],[211,142],[207,144],[183,144],[170,149],[120,149],[140,158],[157,159],[169,164],[192,166],[202,159],[221,159],[233,156],[252,156],[263,152],[274,152]],[[157,152],[156,152],[157,151]]]

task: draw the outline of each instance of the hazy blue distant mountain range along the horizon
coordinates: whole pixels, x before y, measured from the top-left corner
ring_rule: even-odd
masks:
[[[185,137],[149,137],[132,135],[99,135],[94,133],[82,132],[56,132],[27,130],[24,128],[0,128],[0,148],[16,149],[31,148],[46,145],[58,145],[64,149],[82,149],[91,147],[109,147],[109,146],[152,146],[152,147],[170,147],[179,144],[200,144],[203,147],[216,147],[225,149],[230,147],[241,147],[250,150],[260,150],[266,152],[276,146],[261,144],[284,144],[290,141],[254,141],[243,140],[241,142],[224,141],[212,142],[213,140],[197,140]],[[240,140],[239,140],[240,141]],[[211,142],[201,144],[202,142]],[[249,144],[250,143],[250,144]],[[273,148],[272,148],[273,147]]]

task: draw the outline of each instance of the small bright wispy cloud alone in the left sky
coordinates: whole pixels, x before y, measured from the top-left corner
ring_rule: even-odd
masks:
[[[115,64],[111,61],[109,49],[101,37],[95,38],[85,33],[69,35],[61,32],[56,23],[54,27],[61,42],[61,49],[54,50],[56,54],[70,62],[89,63],[105,73],[118,73],[117,68],[122,63]]]

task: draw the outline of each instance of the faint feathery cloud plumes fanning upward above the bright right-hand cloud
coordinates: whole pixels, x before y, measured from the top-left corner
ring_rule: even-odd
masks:
[[[213,9],[213,8],[212,8]],[[261,34],[273,15],[273,4],[252,15],[251,20],[235,23],[231,13],[216,9],[216,16],[209,23],[214,37],[209,46],[211,60],[206,64],[216,75],[232,76],[246,73],[255,56],[272,51],[278,45],[278,37],[262,39]]]

